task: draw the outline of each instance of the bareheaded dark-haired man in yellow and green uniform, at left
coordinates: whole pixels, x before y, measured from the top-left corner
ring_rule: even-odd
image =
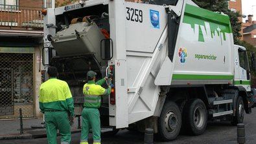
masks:
[[[71,141],[71,130],[68,112],[71,118],[75,118],[74,101],[65,81],[57,79],[56,67],[47,70],[49,80],[41,84],[39,104],[40,110],[45,116],[47,140],[49,144],[56,144],[57,130],[59,130],[61,144],[69,144]]]

